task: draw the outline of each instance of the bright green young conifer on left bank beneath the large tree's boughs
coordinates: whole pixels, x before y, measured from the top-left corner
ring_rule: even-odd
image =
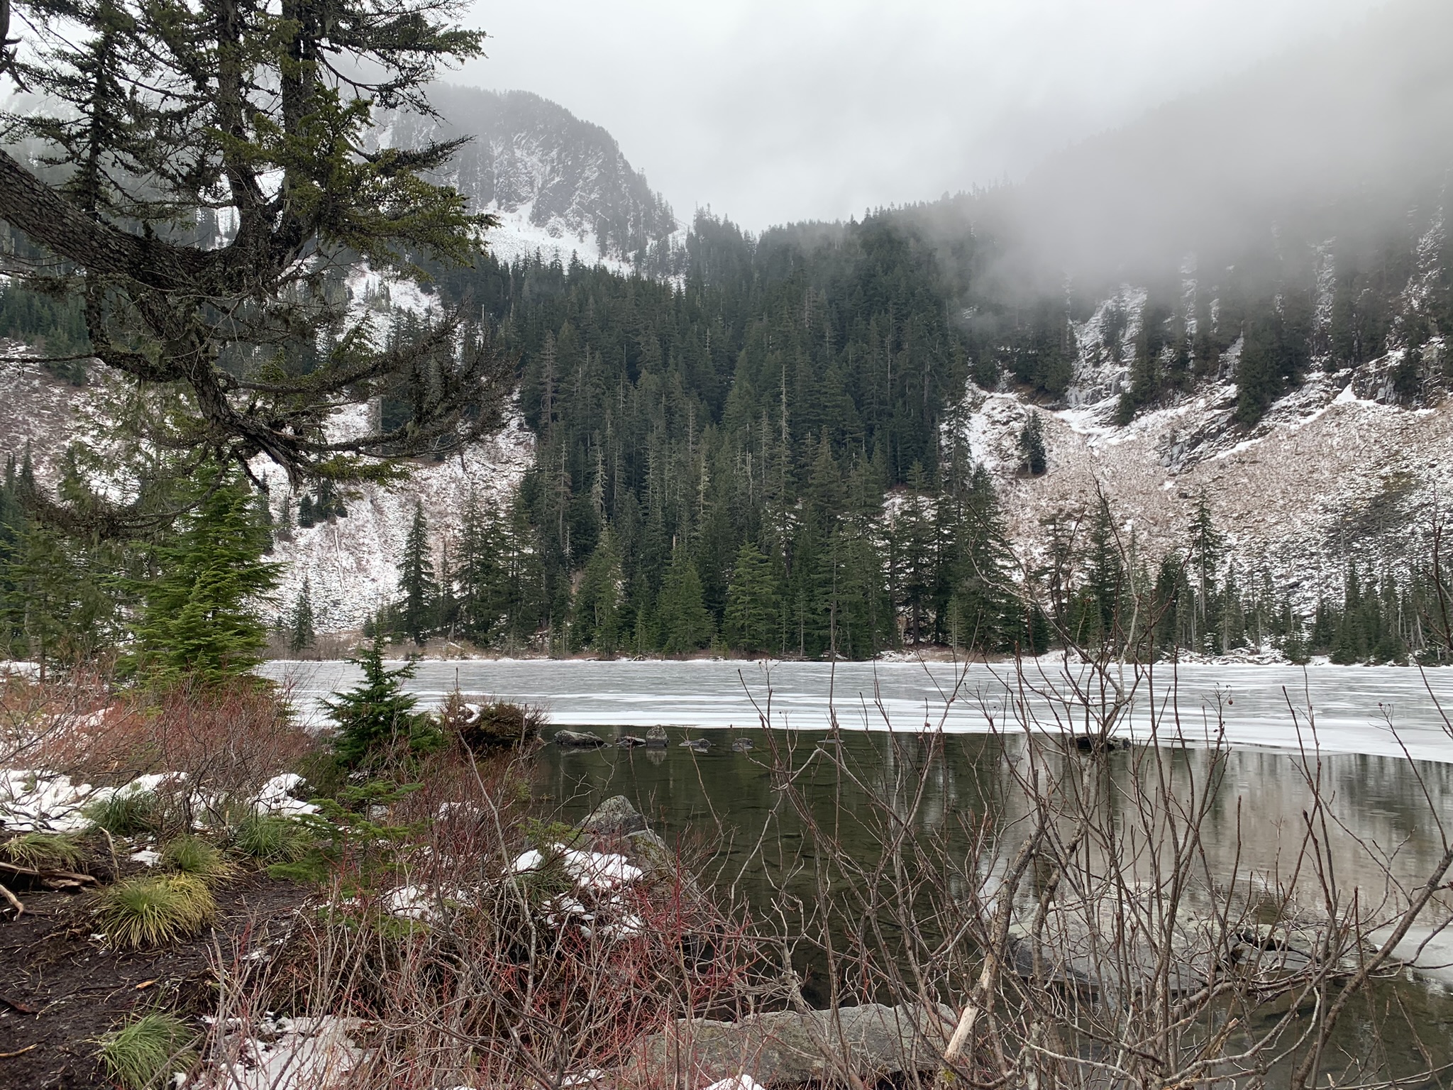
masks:
[[[262,661],[262,607],[280,568],[262,560],[266,532],[247,487],[216,468],[203,485],[177,539],[157,549],[157,576],[139,586],[144,605],[125,664],[151,680],[211,683]]]

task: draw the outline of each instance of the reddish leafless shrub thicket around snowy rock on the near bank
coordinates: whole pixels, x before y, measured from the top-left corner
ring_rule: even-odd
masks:
[[[211,1070],[246,1062],[266,1012],[368,1025],[360,1087],[561,1086],[626,1061],[677,1016],[732,1012],[760,964],[745,921],[702,894],[652,841],[638,882],[578,881],[568,852],[613,859],[623,837],[535,825],[558,843],[522,871],[530,827],[516,762],[436,754],[373,823],[391,849],[346,844],[276,955],[219,965]],[[238,1028],[250,1028],[240,1030]],[[298,1062],[311,1062],[299,1058]]]

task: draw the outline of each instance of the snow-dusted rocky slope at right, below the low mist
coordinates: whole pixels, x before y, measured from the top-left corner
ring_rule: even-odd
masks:
[[[1250,430],[1232,420],[1231,381],[1123,427],[1110,423],[1113,394],[1040,408],[1049,472],[1039,478],[1020,474],[1019,432],[1032,405],[1017,394],[971,385],[965,435],[995,477],[1027,562],[1043,557],[1045,520],[1093,512],[1098,485],[1122,530],[1133,529],[1138,555],[1154,564],[1184,545],[1205,494],[1241,576],[1264,568],[1279,592],[1309,606],[1318,593],[1340,592],[1351,558],[1377,567],[1411,558],[1408,530],[1453,487],[1453,403],[1401,408],[1377,400],[1379,382],[1376,374],[1315,372]]]

